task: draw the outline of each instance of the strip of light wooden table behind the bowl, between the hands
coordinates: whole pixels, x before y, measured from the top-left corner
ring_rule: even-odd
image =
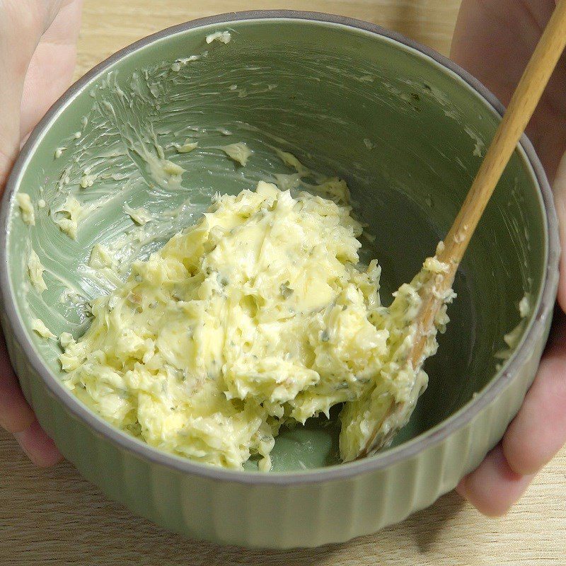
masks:
[[[85,0],[76,77],[144,35],[195,18],[240,10],[337,13],[398,30],[449,51],[460,0]]]

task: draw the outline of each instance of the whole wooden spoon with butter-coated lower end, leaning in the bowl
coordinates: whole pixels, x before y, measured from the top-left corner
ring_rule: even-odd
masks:
[[[536,46],[536,50],[527,65],[521,81],[514,92],[509,107],[505,112],[490,148],[483,159],[478,174],[473,180],[470,191],[463,202],[454,224],[452,224],[444,242],[437,250],[437,259],[446,264],[448,269],[441,274],[427,277],[419,294],[422,305],[415,322],[417,331],[409,359],[415,372],[418,372],[425,359],[423,354],[427,337],[435,332],[434,319],[439,309],[444,306],[443,297],[451,289],[454,276],[462,256],[468,248],[470,238],[485,210],[487,202],[495,190],[497,182],[511,158],[521,134],[531,120],[531,116],[543,95],[543,91],[553,73],[560,55],[566,46],[566,0],[560,0],[550,18],[546,29]],[[392,433],[380,434],[383,421],[398,413],[394,422],[406,422],[413,406],[408,403],[391,403],[390,410],[384,415],[369,436],[358,458],[364,458],[379,450]],[[403,418],[405,417],[405,418]]]

